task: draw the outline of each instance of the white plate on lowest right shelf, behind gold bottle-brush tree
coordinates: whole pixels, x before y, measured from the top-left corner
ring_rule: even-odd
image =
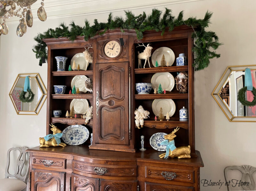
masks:
[[[152,103],[152,110],[156,116],[159,115],[159,110],[161,107],[163,109],[164,116],[166,116],[168,112],[169,116],[172,117],[176,110],[175,103],[172,99],[155,99]]]

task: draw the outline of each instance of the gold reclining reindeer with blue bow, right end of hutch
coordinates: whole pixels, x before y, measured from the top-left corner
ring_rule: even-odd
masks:
[[[163,153],[161,155],[159,155],[160,158],[191,158],[190,156],[190,146],[181,146],[181,147],[175,147],[174,146],[174,138],[176,137],[175,133],[179,130],[180,128],[176,128],[172,131],[172,133],[165,135],[164,139],[166,139],[165,141],[163,141],[161,144],[163,145],[167,145],[166,146],[166,153]]]

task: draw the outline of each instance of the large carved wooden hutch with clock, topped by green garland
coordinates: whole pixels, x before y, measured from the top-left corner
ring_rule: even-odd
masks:
[[[193,29],[187,26],[160,32],[148,31],[138,40],[134,30],[108,30],[88,41],[77,37],[74,42],[67,38],[44,39],[48,47],[48,99],[46,134],[52,133],[49,123],[63,130],[68,125],[84,124],[84,119],[65,118],[72,99],[87,99],[93,106],[93,119],[87,126],[93,132],[83,145],[50,148],[32,148],[30,153],[29,189],[31,191],[196,191],[200,190],[200,167],[203,161],[195,150],[194,127],[194,68]],[[110,58],[104,53],[105,45],[119,38],[124,39],[120,53]],[[177,57],[185,53],[188,66],[138,69],[138,51],[143,47],[137,43],[151,43],[152,53],[160,47],[171,48]],[[71,58],[92,47],[93,64],[86,71],[67,71]],[[55,56],[68,57],[66,71],[57,71]],[[176,60],[176,59],[175,59]],[[180,94],[176,88],[166,94],[138,95],[135,83],[150,82],[157,72],[170,72],[174,77],[179,71],[188,73],[188,93]],[[93,79],[93,93],[69,95],[70,82],[76,75]],[[66,85],[66,94],[54,94],[53,85]],[[175,114],[170,121],[155,121],[152,112],[154,99],[173,99]],[[134,110],[142,105],[150,112],[144,120],[144,127],[135,128]],[[179,121],[179,110],[188,108],[189,121]],[[63,116],[54,118],[52,110],[62,110]],[[156,132],[176,133],[175,145],[190,145],[190,159],[160,159],[159,154],[150,147],[149,138]],[[146,151],[140,151],[140,136],[145,136]],[[176,177],[170,174],[176,173]],[[172,180],[171,180],[172,179]]]

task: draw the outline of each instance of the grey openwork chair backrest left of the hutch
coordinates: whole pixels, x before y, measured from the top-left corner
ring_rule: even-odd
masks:
[[[28,170],[26,171],[26,173],[24,175],[21,174],[22,169],[24,167],[24,164],[26,162],[26,150],[28,149],[28,147],[16,147],[16,148],[11,148],[7,151],[7,164],[6,164],[6,168],[5,168],[5,178],[17,178],[22,180],[23,182],[26,181],[27,178],[27,174],[28,174]],[[17,165],[16,165],[16,169],[15,169],[15,173],[14,174],[10,174],[9,173],[9,167],[10,167],[10,152],[11,151],[20,151],[20,154],[17,158]]]

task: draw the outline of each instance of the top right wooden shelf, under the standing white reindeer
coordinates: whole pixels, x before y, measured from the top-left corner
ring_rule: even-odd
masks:
[[[180,71],[188,71],[188,66],[169,66],[169,67],[134,69],[135,74],[156,73],[156,72],[180,72]]]

